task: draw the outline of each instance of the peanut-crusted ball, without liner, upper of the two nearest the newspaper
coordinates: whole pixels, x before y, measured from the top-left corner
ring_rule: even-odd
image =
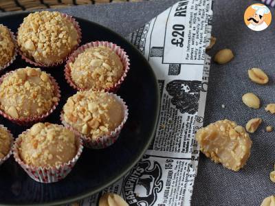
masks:
[[[74,83],[95,91],[112,87],[123,74],[120,57],[109,47],[91,47],[69,63]]]

